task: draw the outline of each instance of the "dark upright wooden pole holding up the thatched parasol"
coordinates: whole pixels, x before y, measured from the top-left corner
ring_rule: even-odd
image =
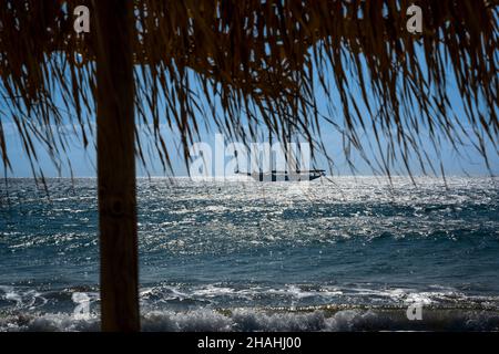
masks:
[[[103,331],[139,331],[133,1],[95,2]]]

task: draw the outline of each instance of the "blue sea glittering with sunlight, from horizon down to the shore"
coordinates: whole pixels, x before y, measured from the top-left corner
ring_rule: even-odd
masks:
[[[100,329],[95,185],[1,181],[0,331]],[[144,331],[499,330],[499,179],[144,178],[138,196]]]

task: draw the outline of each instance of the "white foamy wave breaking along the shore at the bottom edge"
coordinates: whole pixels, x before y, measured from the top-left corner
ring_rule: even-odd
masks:
[[[143,331],[498,331],[499,313],[477,310],[427,310],[422,321],[408,321],[404,309],[346,309],[339,311],[268,311],[259,309],[151,311]],[[99,317],[71,314],[0,315],[0,331],[99,331]]]

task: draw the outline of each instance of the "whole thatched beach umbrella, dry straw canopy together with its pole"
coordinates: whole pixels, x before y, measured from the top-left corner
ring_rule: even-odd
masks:
[[[422,9],[419,34],[406,29],[413,2]],[[68,146],[61,125],[70,124],[84,147],[96,131],[102,326],[139,330],[139,122],[146,123],[165,169],[171,146],[160,134],[161,119],[180,132],[185,158],[201,122],[244,142],[264,127],[283,139],[299,134],[325,149],[319,122],[327,121],[340,129],[347,158],[352,147],[364,152],[361,133],[374,134],[381,158],[366,160],[388,175],[395,162],[410,175],[415,158],[438,168],[421,131],[436,146],[440,138],[457,150],[471,143],[487,160],[486,146],[497,146],[499,135],[495,4],[3,0],[3,165],[11,168],[2,121],[17,126],[35,175],[34,140],[59,164]],[[74,32],[77,6],[90,9],[90,33]],[[454,114],[448,76],[458,85],[465,117]],[[317,90],[337,97],[329,104],[338,117],[322,116]]]

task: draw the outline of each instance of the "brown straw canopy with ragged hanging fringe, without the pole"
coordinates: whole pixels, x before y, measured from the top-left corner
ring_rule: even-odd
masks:
[[[84,145],[93,133],[95,54],[102,34],[92,15],[98,3],[2,4],[2,111],[13,118],[34,160],[33,139],[54,159],[61,157],[58,153],[67,146],[57,134],[61,123],[79,126]],[[406,29],[411,3],[422,9],[420,35]],[[403,159],[411,155],[425,159],[417,136],[424,126],[435,142],[445,137],[456,148],[471,134],[486,155],[483,140],[497,143],[499,128],[493,3],[134,1],[131,45],[138,121],[151,127],[164,166],[170,155],[159,134],[162,118],[182,133],[184,147],[205,121],[228,136],[248,138],[264,125],[278,137],[293,131],[317,143],[320,116],[315,93],[323,90],[335,97],[330,103],[338,114],[327,118],[342,128],[345,147],[363,149],[363,129],[373,129],[387,142],[380,150],[383,173],[390,173],[390,156],[397,153]],[[78,35],[72,9],[81,4],[89,7],[92,23],[90,33]],[[450,76],[461,94],[466,119],[450,106]],[[361,94],[353,95],[354,88]],[[2,131],[0,146],[2,160],[10,166]]]

